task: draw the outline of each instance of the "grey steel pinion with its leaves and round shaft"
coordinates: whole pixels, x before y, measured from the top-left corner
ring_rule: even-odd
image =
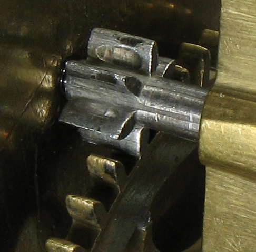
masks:
[[[191,45],[189,48],[199,48],[193,50],[203,50],[208,55],[208,76],[200,78],[206,85],[210,52]],[[201,58],[205,63],[204,56]],[[102,61],[108,64],[102,65]],[[159,70],[160,75],[166,72],[170,75],[173,61],[167,60],[162,72]],[[146,143],[140,131],[143,127],[198,141],[208,91],[157,77],[154,75],[159,68],[157,62],[154,41],[114,30],[94,29],[87,61],[66,63],[63,83],[68,103],[60,121],[81,128],[86,141],[121,148],[136,156],[141,155],[142,144]],[[125,67],[124,70],[119,66]],[[204,75],[206,71],[197,72]]]

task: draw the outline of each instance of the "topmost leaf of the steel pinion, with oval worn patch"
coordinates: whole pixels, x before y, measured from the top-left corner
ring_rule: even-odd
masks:
[[[124,66],[149,76],[155,73],[158,61],[154,40],[101,28],[92,30],[87,54],[89,59]]]

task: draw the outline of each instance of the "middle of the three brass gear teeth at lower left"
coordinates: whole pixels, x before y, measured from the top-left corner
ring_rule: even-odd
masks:
[[[66,207],[74,222],[80,225],[101,230],[106,221],[106,209],[95,199],[68,195]]]

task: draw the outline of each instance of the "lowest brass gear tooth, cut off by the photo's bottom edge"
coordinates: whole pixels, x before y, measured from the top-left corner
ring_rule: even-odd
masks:
[[[87,252],[77,244],[58,238],[48,239],[45,246],[48,252]]]

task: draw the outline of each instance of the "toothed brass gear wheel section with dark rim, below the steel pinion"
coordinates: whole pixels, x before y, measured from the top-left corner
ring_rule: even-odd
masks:
[[[164,139],[168,141],[162,146],[163,151],[161,143]],[[66,240],[48,239],[47,250],[49,252],[161,251],[155,247],[152,240],[152,220],[154,222],[159,219],[161,212],[164,211],[161,206],[155,207],[160,203],[157,198],[160,194],[164,195],[166,188],[170,190],[170,177],[174,176],[175,181],[184,159],[191,155],[195,148],[193,143],[183,141],[165,134],[157,135],[149,146],[147,154],[136,164],[129,176],[126,175],[120,161],[98,155],[88,156],[87,168],[95,186],[103,184],[111,188],[116,198],[110,209],[106,211],[106,207],[109,206],[107,204],[104,206],[96,199],[68,195],[66,207],[73,219],[70,232]],[[156,145],[159,148],[155,149]],[[162,162],[157,160],[156,164],[154,157],[161,151],[164,152],[161,157]],[[166,165],[165,162],[171,165]],[[157,166],[162,169],[156,172]],[[188,165],[185,164],[185,167]],[[188,168],[184,171],[188,172]],[[173,179],[171,181],[173,182]],[[174,190],[174,187],[171,186],[171,190]],[[164,197],[170,199],[170,195],[166,192],[165,194]],[[154,210],[151,214],[151,209],[156,208],[157,212],[154,213]],[[201,241],[183,251],[201,251]]]

